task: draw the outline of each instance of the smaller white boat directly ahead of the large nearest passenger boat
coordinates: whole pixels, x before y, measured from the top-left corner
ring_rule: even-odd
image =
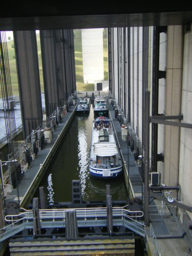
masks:
[[[109,108],[104,96],[97,96],[94,100],[94,116],[108,116]]]

